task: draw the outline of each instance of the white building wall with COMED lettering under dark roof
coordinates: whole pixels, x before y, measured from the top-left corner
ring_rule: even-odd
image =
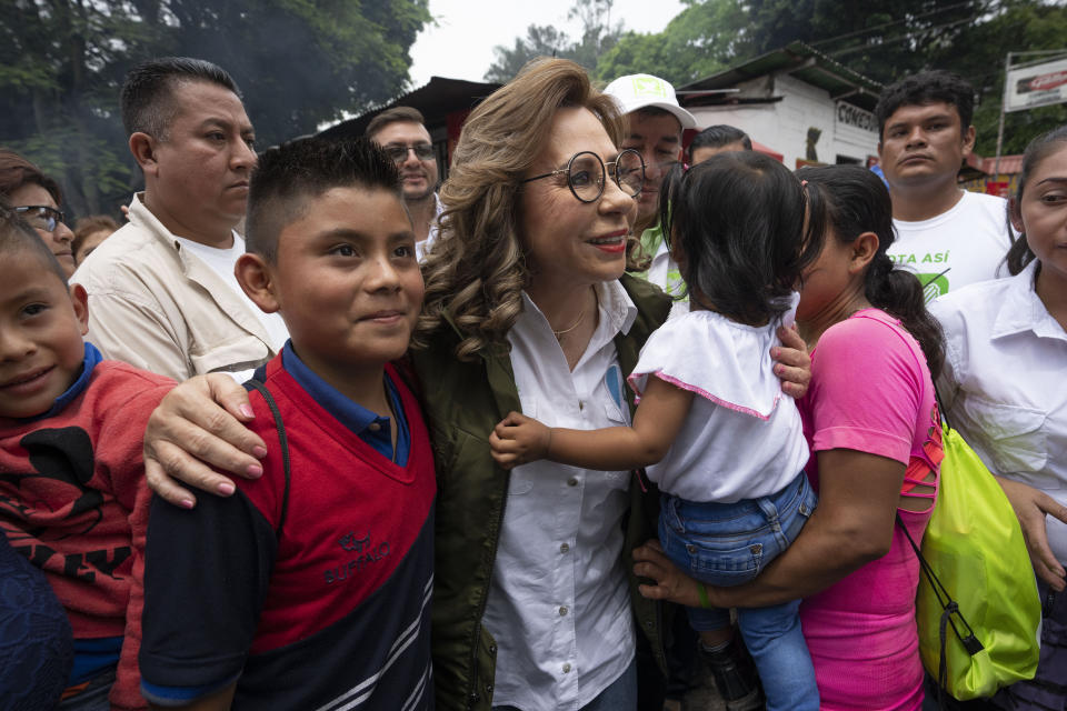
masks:
[[[865,160],[868,154],[877,153],[877,133],[839,121],[837,104],[824,89],[788,74],[761,77],[738,84],[738,97],[782,99],[774,103],[696,107],[690,112],[697,119],[697,127],[736,126],[752,140],[781,153],[790,169],[796,168],[798,159],[807,158],[809,128],[821,131],[815,143],[820,162],[837,162],[838,156]],[[855,112],[848,118],[856,122]]]

